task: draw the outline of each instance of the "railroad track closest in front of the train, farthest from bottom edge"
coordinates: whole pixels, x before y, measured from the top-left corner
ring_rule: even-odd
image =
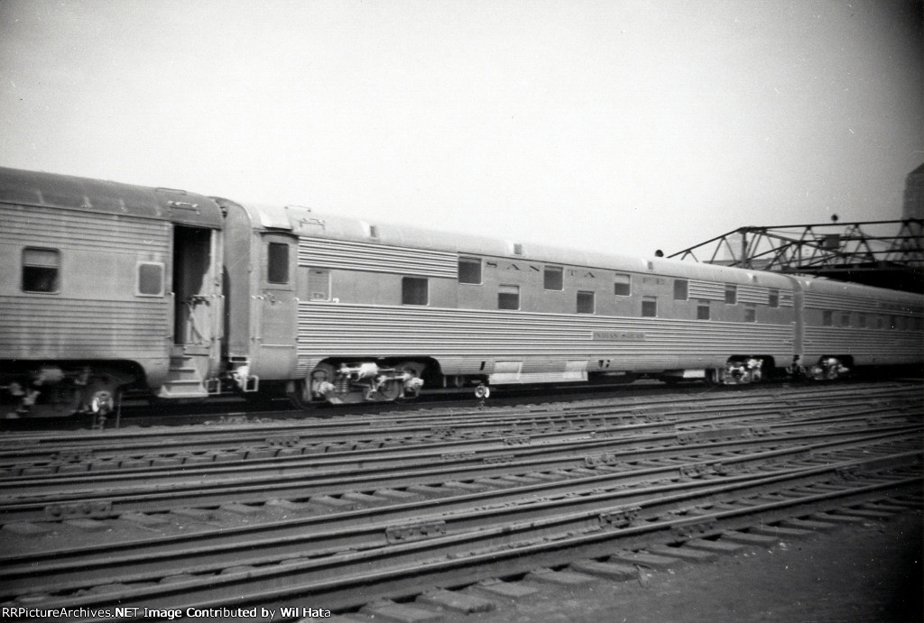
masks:
[[[869,385],[848,389],[748,392],[743,396],[698,394],[692,398],[637,401],[582,401],[498,410],[422,410],[346,417],[332,421],[246,423],[158,427],[120,431],[21,433],[0,437],[0,477],[112,471],[162,464],[166,467],[204,462],[265,459],[295,454],[322,454],[355,449],[418,445],[436,440],[465,440],[528,433],[536,437],[567,434],[579,428],[606,429],[650,420],[705,422],[733,419],[747,412],[768,419],[792,413],[813,420],[840,417],[833,405],[852,404],[913,411],[918,388]],[[769,399],[769,401],[768,401]],[[451,424],[447,424],[447,421]]]

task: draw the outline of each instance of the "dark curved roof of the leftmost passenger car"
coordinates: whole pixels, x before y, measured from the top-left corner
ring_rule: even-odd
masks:
[[[6,167],[0,167],[0,203],[223,226],[218,205],[203,195]]]

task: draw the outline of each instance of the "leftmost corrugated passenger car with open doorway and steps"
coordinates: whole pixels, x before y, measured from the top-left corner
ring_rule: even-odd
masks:
[[[221,210],[201,195],[0,169],[0,385],[15,412],[105,412],[121,389],[208,395]]]

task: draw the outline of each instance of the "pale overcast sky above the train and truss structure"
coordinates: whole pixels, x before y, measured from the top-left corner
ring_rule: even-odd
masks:
[[[920,0],[0,0],[0,165],[668,254],[896,219]]]

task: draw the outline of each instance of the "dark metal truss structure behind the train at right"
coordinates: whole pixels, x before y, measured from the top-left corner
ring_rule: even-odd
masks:
[[[741,227],[669,256],[924,292],[924,220]]]

